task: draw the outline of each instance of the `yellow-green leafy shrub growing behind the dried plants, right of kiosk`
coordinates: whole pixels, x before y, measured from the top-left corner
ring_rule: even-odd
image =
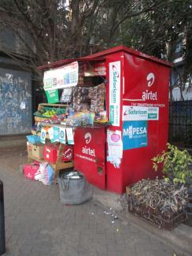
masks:
[[[156,172],[158,165],[163,164],[164,180],[186,184],[188,165],[192,163],[192,158],[186,150],[179,150],[178,147],[168,143],[168,150],[163,150],[157,157],[152,158],[152,161]]]

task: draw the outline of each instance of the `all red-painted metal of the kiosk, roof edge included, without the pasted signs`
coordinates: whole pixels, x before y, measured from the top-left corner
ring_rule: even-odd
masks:
[[[110,126],[121,131],[124,138],[123,106],[158,107],[158,120],[146,121],[147,143],[145,147],[124,148],[120,166],[116,168],[106,161],[105,128],[76,128],[74,161],[75,168],[87,176],[87,180],[102,189],[122,194],[128,184],[142,178],[157,176],[152,169],[155,155],[166,148],[168,141],[168,86],[172,64],[142,54],[124,46],[116,46],[98,54],[76,60],[64,60],[41,67],[49,69],[68,61],[97,61],[105,58],[106,63],[106,108],[109,114],[109,64],[120,61],[120,122]],[[103,59],[101,59],[103,61]],[[106,171],[105,171],[106,169]],[[106,175],[106,176],[105,176]]]

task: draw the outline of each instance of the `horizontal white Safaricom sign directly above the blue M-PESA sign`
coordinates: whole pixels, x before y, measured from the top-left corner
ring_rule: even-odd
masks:
[[[159,120],[158,107],[123,106],[123,121]]]

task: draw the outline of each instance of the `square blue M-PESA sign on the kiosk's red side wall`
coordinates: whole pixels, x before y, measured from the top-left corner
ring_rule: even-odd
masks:
[[[123,149],[147,147],[147,121],[124,121]]]

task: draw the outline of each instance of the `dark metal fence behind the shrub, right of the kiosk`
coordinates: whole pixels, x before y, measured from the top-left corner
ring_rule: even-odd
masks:
[[[169,102],[169,142],[192,147],[192,101]]]

